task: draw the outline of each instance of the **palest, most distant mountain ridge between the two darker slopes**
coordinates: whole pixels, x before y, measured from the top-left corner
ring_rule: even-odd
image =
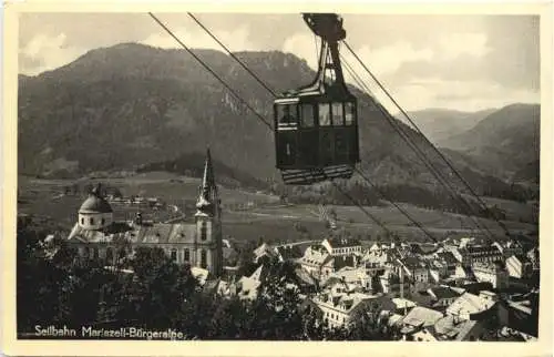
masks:
[[[441,140],[470,130],[494,111],[495,109],[486,109],[478,112],[461,112],[449,109],[424,109],[410,111],[407,112],[407,114],[432,143],[438,143]],[[394,116],[409,123],[404,115],[397,114]]]

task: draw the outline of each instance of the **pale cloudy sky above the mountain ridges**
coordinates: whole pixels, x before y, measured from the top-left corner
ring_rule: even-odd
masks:
[[[317,65],[300,14],[195,13],[232,51],[280,50]],[[189,48],[222,50],[186,13],[156,13]],[[479,111],[540,102],[537,16],[343,14],[347,42],[407,111]],[[19,72],[35,75],[122,42],[179,48],[146,13],[22,13]],[[341,47],[373,95],[392,102]],[[346,72],[348,82],[356,84]]]

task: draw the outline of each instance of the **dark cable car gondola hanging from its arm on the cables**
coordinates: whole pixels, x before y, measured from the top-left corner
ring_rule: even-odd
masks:
[[[274,102],[277,169],[285,184],[295,185],[350,178],[360,162],[357,100],[345,83],[338,49],[346,38],[342,19],[302,16],[321,39],[318,72],[312,83]]]

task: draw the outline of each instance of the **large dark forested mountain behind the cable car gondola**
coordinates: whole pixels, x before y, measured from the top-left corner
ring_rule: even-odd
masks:
[[[214,50],[194,53],[220,75],[261,116],[271,122],[274,98],[230,57]],[[290,53],[237,52],[236,55],[276,92],[312,80],[315,72]],[[359,100],[361,170],[379,185],[410,185],[437,192],[429,169],[386,120],[384,109],[351,88]],[[183,155],[204,153],[237,171],[237,177],[274,181],[273,133],[184,50],[122,43],[92,50],[74,62],[32,78],[20,78],[19,171],[75,175],[171,167]],[[422,152],[449,177],[462,183],[402,122]],[[472,169],[471,160],[448,154],[476,192],[505,184]],[[458,157],[458,159],[456,159]],[[463,159],[463,160],[462,160]]]

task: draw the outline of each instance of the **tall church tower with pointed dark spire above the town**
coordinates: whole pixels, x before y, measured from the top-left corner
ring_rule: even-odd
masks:
[[[206,153],[204,176],[196,202],[196,266],[206,268],[215,277],[223,272],[222,208],[217,194],[209,149]]]

